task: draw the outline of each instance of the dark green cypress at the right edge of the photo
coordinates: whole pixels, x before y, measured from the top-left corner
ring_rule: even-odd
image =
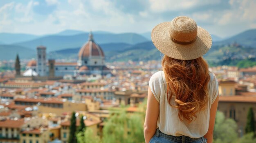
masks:
[[[253,132],[255,136],[255,124],[254,124],[254,112],[252,110],[252,107],[249,108],[248,114],[247,114],[247,122],[245,126],[245,132]]]

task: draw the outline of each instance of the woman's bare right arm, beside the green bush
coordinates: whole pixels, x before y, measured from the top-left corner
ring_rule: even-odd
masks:
[[[219,94],[216,97],[215,101],[211,104],[209,129],[208,129],[207,133],[204,135],[204,137],[207,138],[207,143],[212,143],[212,141],[213,141],[213,129],[214,129],[214,123],[215,123],[218,102],[219,102]]]

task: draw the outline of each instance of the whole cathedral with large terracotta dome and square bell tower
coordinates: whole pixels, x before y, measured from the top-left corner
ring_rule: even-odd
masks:
[[[89,34],[88,42],[86,42],[78,53],[78,61],[72,62],[53,62],[46,61],[46,47],[37,47],[37,61],[31,60],[26,70],[33,70],[38,76],[83,76],[83,75],[108,75],[111,74],[110,69],[105,65],[105,55],[102,48],[94,42],[92,33]],[[52,65],[54,63],[54,65]],[[54,66],[54,74],[49,72]],[[51,68],[50,68],[51,67]],[[28,76],[28,75],[26,75]],[[32,76],[32,75],[31,75]]]

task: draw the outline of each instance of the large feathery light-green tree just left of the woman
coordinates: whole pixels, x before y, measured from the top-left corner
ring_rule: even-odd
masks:
[[[141,112],[113,112],[103,128],[103,143],[144,143],[143,123]]]

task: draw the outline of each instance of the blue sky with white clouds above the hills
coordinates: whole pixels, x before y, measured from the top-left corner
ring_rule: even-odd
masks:
[[[256,0],[0,0],[0,33],[144,33],[181,15],[225,38],[256,28]]]

